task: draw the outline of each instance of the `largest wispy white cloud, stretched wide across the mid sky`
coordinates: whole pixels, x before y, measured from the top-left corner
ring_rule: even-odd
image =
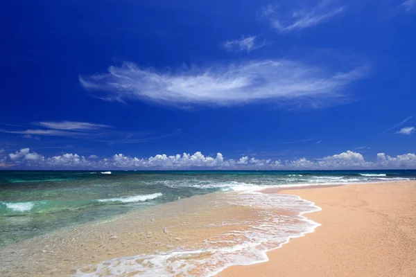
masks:
[[[128,98],[157,102],[163,105],[229,106],[276,100],[301,100],[314,105],[319,100],[340,100],[343,89],[365,75],[365,68],[347,72],[328,72],[290,60],[263,60],[214,65],[198,69],[157,72],[135,64],[111,66],[108,73],[80,78],[86,89],[105,92],[106,100]]]

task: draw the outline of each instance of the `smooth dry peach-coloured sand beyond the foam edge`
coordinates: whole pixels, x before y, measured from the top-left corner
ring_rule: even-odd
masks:
[[[270,191],[269,191],[270,193]],[[282,190],[315,202],[314,233],[219,276],[416,276],[416,182]]]

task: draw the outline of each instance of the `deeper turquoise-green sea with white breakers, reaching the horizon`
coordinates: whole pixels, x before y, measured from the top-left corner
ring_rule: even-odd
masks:
[[[218,190],[415,179],[388,171],[0,171],[0,247]]]

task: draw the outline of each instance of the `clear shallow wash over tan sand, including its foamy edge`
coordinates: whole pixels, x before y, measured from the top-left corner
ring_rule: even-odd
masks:
[[[255,238],[261,240],[259,235],[272,239],[271,248],[302,228],[309,231],[313,224],[293,211],[296,206],[313,209],[293,195],[210,193],[180,199],[4,247],[0,276],[166,276],[178,271],[205,276],[235,260],[245,264],[267,258],[254,248],[245,251],[245,259],[238,251]],[[199,249],[203,251],[189,253]],[[155,264],[147,262],[153,258]],[[161,260],[166,265],[162,269]]]

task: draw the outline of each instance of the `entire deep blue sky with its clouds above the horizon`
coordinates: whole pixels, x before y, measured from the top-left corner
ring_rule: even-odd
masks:
[[[416,168],[415,15],[414,0],[5,3],[0,167]]]

